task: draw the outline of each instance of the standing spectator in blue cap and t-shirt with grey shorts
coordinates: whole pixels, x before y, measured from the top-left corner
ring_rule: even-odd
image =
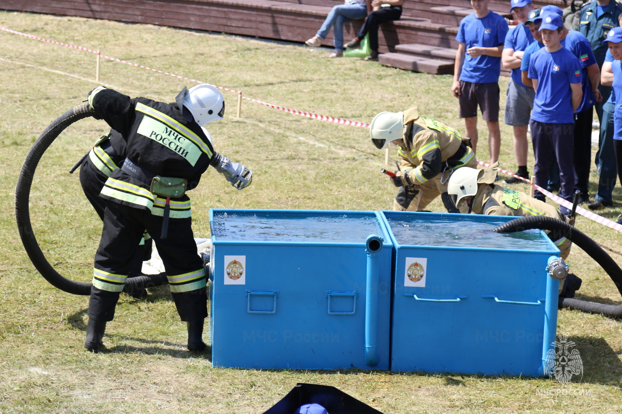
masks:
[[[511,79],[508,83],[506,94],[505,123],[514,127],[514,155],[518,164],[516,175],[529,179],[527,171],[527,126],[531,108],[534,106],[534,88],[526,86],[521,81],[521,59],[524,50],[534,41],[529,31],[529,25],[525,22],[530,17],[539,16],[540,10],[534,10],[531,0],[512,0],[511,12],[521,22],[508,32],[501,64],[506,69],[511,69]],[[516,177],[506,178],[506,184],[521,182]]]

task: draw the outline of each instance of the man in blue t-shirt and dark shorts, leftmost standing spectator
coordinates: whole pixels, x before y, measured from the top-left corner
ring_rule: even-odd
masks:
[[[477,109],[488,126],[490,162],[499,159],[499,73],[508,22],[488,10],[490,0],[471,0],[474,13],[460,22],[452,93],[458,98],[466,136],[477,149]]]

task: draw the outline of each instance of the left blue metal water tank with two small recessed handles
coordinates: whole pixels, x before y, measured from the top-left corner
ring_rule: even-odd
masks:
[[[378,212],[211,209],[210,227],[213,366],[389,369]]]

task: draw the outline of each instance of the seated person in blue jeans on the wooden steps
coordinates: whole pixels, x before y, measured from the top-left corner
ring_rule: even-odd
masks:
[[[330,28],[333,29],[333,42],[335,52],[328,55],[330,58],[343,57],[343,24],[356,20],[364,19],[371,11],[371,0],[345,0],[345,4],[338,4],[328,13],[322,27],[317,34],[307,40],[305,44],[311,47],[318,47],[322,40],[326,39]]]

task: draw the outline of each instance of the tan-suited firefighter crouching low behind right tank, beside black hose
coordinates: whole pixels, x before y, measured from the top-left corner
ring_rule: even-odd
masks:
[[[559,209],[520,191],[494,184],[499,163],[488,168],[462,167],[452,173],[447,192],[453,205],[463,214],[488,214],[491,216],[547,216],[566,221]],[[560,234],[547,232],[560,250],[560,257],[567,259],[572,242]],[[573,274],[559,281],[559,295],[572,298],[581,287],[581,279]]]

